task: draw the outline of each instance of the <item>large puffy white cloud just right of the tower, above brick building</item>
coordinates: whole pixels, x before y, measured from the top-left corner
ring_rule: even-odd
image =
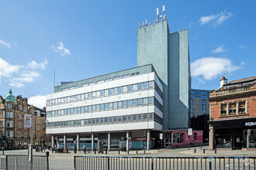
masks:
[[[234,72],[239,69],[230,59],[213,56],[203,57],[191,63],[192,76],[202,76],[204,80],[213,80],[217,76]]]

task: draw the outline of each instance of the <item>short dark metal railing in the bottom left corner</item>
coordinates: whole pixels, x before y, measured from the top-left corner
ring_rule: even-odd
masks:
[[[28,155],[6,155],[5,169],[29,170],[30,162],[28,161]],[[33,169],[49,170],[48,157],[33,155]]]

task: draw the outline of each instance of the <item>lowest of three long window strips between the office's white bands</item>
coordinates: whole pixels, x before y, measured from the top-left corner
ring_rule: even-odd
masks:
[[[104,124],[127,124],[127,123],[137,123],[144,121],[157,121],[162,124],[162,118],[157,114],[133,114],[133,115],[123,115],[116,117],[100,117],[92,119],[84,119],[77,121],[59,121],[53,123],[47,123],[47,128],[69,128],[69,127],[81,127],[81,126],[94,126],[94,125],[104,125]]]

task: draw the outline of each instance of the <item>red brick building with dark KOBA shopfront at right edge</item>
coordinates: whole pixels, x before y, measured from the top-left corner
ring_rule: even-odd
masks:
[[[210,92],[209,149],[256,149],[256,76]]]

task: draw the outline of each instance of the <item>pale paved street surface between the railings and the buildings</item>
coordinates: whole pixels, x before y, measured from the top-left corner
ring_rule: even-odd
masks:
[[[203,154],[203,148],[205,148],[205,154]],[[196,151],[196,152],[195,152]],[[194,153],[195,152],[195,153]],[[5,155],[27,155],[28,151],[26,149],[22,150],[12,150],[5,151]],[[2,151],[0,151],[0,155],[2,155]],[[45,155],[45,153],[33,151],[33,155]],[[50,169],[74,169],[74,155],[77,156],[129,156],[129,157],[250,157],[255,156],[256,151],[217,151],[215,154],[214,151],[209,151],[208,146],[204,147],[195,147],[195,148],[175,148],[175,149],[162,149],[162,150],[150,150],[146,151],[130,151],[129,155],[125,151],[120,151],[120,155],[118,151],[108,151],[106,155],[104,154],[94,154],[87,153],[84,154],[83,151],[79,151],[77,154],[71,152],[69,154],[60,154],[60,153],[52,153],[50,151],[49,156],[49,164]]]

